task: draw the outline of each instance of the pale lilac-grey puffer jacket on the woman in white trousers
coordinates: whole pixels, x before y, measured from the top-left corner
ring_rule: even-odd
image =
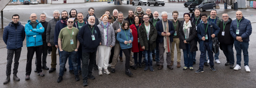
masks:
[[[104,35],[104,31],[106,31],[103,28],[103,25],[100,23],[99,25],[97,25],[98,28],[100,29],[100,34],[101,34],[101,45],[105,45],[104,39],[105,39],[105,35]],[[116,44],[116,37],[115,37],[115,32],[114,29],[112,27],[112,25],[110,25],[110,23],[108,23],[108,27],[107,27],[107,46],[115,46]]]

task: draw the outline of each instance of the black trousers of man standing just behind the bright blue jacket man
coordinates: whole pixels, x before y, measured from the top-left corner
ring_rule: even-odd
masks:
[[[47,57],[47,54],[48,54],[48,46],[47,46],[47,42],[46,41],[43,41],[42,54],[43,54],[42,64],[43,64],[43,66],[46,66],[46,57]],[[36,60],[35,64],[37,64],[37,60]]]

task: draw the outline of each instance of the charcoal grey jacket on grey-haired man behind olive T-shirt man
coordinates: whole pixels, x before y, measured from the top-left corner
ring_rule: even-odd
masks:
[[[50,44],[52,46],[54,46],[54,31],[55,31],[55,26],[56,26],[56,23],[60,20],[60,18],[58,19],[51,19],[49,22],[48,22],[48,26],[46,28],[46,42],[50,42]]]

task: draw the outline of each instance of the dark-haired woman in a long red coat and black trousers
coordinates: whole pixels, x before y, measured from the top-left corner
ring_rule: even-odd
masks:
[[[138,64],[141,68],[141,60],[142,60],[142,51],[144,51],[140,46],[140,41],[138,40],[138,31],[141,25],[141,20],[138,16],[133,17],[132,25],[130,25],[130,29],[132,30],[133,42],[132,42],[132,52],[134,55],[134,66],[137,68]],[[138,55],[139,54],[139,55]],[[139,61],[138,61],[139,57]]]

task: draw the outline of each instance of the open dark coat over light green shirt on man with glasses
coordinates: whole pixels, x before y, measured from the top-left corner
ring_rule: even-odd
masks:
[[[144,25],[144,21],[142,21],[142,24],[139,27],[140,46],[142,47],[145,46],[145,50],[153,51],[156,48],[157,31],[153,23],[151,23],[150,21],[148,22],[150,24],[150,31],[148,36],[147,36],[147,31]]]

